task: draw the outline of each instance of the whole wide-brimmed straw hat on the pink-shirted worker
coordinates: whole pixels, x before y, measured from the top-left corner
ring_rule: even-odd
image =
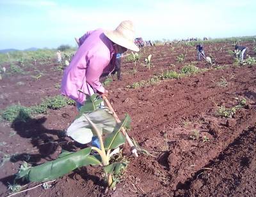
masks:
[[[114,31],[104,31],[104,34],[109,38],[109,40],[122,47],[136,52],[140,51],[140,48],[134,44],[135,33],[133,24],[130,20],[124,20]]]

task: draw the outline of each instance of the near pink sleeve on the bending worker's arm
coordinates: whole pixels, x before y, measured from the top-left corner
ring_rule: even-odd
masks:
[[[86,68],[86,82],[92,86],[95,91],[105,92],[104,87],[100,83],[100,75],[104,68],[109,66],[109,60],[104,57],[93,56],[88,62],[88,67]]]

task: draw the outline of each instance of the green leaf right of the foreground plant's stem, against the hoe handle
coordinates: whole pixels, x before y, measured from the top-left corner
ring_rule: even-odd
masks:
[[[131,118],[129,115],[125,116],[125,119],[117,124],[113,133],[106,137],[104,140],[104,147],[106,150],[108,149],[116,149],[123,143],[125,143],[125,136],[121,131],[122,128],[130,128]]]

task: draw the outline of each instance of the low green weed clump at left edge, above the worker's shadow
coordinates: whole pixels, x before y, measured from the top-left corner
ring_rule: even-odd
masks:
[[[31,109],[26,106],[12,105],[8,106],[2,113],[1,116],[4,120],[9,122],[13,121],[24,121],[30,118]]]

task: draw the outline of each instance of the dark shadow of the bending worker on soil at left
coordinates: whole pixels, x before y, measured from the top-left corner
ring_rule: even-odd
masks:
[[[15,154],[10,157],[10,162],[26,161],[30,164],[41,164],[45,163],[45,161],[56,159],[62,149],[74,151],[77,147],[81,147],[81,145],[74,143],[70,138],[66,137],[65,131],[45,128],[44,122],[46,120],[45,117],[40,119],[29,117],[26,119],[26,122],[20,121],[20,119],[13,121],[11,127],[16,131],[17,135],[22,138],[29,138],[33,147],[36,147],[36,150]],[[9,183],[15,182],[17,184],[20,181],[15,180],[15,175],[0,179],[0,182],[3,182],[6,186]]]

